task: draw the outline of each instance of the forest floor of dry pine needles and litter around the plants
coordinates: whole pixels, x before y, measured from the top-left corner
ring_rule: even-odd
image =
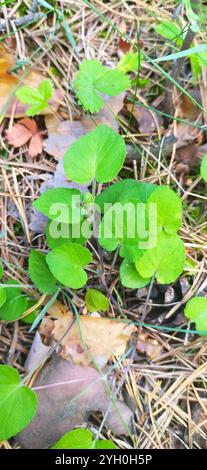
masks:
[[[103,272],[97,274],[100,254],[96,245],[88,242],[93,263],[86,268],[87,285],[109,297],[110,314],[105,316],[123,315],[131,324],[144,321],[145,325],[138,326],[133,360],[110,359],[115,370],[115,394],[133,412],[130,435],[117,435],[104,426],[104,413],[95,413],[89,428],[122,449],[206,448],[207,343],[194,324],[188,323],[184,306],[193,296],[207,296],[207,197],[206,183],[200,176],[201,159],[207,152],[207,67],[204,62],[195,65],[196,60],[193,64],[185,56],[157,61],[182,46],[155,29],[158,24],[171,22],[187,31],[191,25],[184,2],[5,0],[1,4],[2,283],[18,281],[23,295],[29,296],[38,309],[44,306],[46,296],[28,276],[31,248],[48,251],[44,220],[31,204],[40,191],[64,186],[59,163],[70,143],[79,137],[80,126],[89,130],[97,123],[106,123],[116,129],[127,145],[127,157],[116,181],[131,178],[170,185],[181,197],[183,223],[179,234],[185,244],[186,264],[175,283],[163,285],[154,280],[150,286],[129,289],[120,284],[120,259],[113,253],[105,254]],[[191,31],[191,42],[184,49],[205,44],[202,25],[201,21],[200,29]],[[101,116],[84,112],[72,87],[81,62],[97,59],[113,68],[137,47],[142,51],[141,66],[132,73],[130,90],[109,101]],[[196,66],[200,69],[195,78]],[[8,73],[23,83],[31,71],[42,79],[50,78],[57,93],[52,112],[35,117],[42,142],[38,155],[34,155],[36,142],[33,148],[28,143],[17,147],[10,145],[7,137],[24,117],[21,106],[11,106]],[[63,125],[60,130],[60,122],[66,123],[65,129]],[[70,295],[79,313],[85,314],[85,288],[70,290]],[[63,302],[61,295],[59,300]],[[15,367],[20,374],[25,373],[34,337],[30,327],[21,319],[0,322],[0,363]],[[100,337],[99,341],[104,339]],[[0,445],[5,449],[19,447],[13,438]]]

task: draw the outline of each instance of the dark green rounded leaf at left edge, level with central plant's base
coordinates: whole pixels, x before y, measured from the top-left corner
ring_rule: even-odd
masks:
[[[6,321],[16,320],[27,309],[28,301],[22,295],[17,281],[9,280],[5,284],[8,284],[8,287],[4,287],[6,302],[0,307],[0,318]],[[16,284],[17,287],[9,287],[10,284]]]

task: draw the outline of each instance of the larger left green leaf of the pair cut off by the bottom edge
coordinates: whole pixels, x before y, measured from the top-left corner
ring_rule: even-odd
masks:
[[[51,449],[91,449],[92,442],[92,434],[88,429],[73,429],[64,434]]]

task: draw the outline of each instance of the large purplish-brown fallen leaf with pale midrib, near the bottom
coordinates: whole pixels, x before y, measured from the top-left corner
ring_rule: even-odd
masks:
[[[105,424],[112,432],[128,434],[132,412],[116,398],[110,401],[109,380],[106,387],[93,367],[72,365],[54,355],[33,384],[39,402],[36,416],[16,441],[27,449],[49,447],[96,411],[106,413]]]

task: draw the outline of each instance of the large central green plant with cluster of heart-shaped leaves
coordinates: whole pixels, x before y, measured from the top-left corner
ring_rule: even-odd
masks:
[[[64,168],[73,181],[91,182],[94,192],[96,182],[109,182],[117,176],[124,158],[124,139],[108,126],[99,125],[71,145],[64,157]],[[182,204],[172,189],[126,179],[108,186],[95,197],[94,202],[95,211],[102,214],[98,242],[104,250],[118,250],[124,258],[120,266],[120,279],[125,287],[142,287],[153,276],[162,284],[178,278],[185,262],[184,245],[177,234],[182,222]],[[58,203],[60,208],[64,205],[67,209],[67,221],[64,211],[52,211],[52,206]],[[140,212],[137,212],[139,205]],[[91,262],[91,254],[80,244],[81,237],[77,243],[77,237],[73,237],[71,231],[78,222],[80,226],[87,222],[93,207],[93,195],[85,193],[83,196],[78,190],[57,188],[41,195],[34,202],[34,207],[51,219],[49,228],[55,218],[59,225],[62,223],[69,228],[68,236],[60,238],[60,242],[54,239],[54,243],[50,230],[46,230],[52,248],[46,257],[37,252],[31,253],[29,270],[34,284],[44,293],[49,293],[48,287],[51,292],[55,290],[55,279],[67,287],[83,287],[87,282],[83,268]],[[152,208],[156,208],[156,220]],[[131,235],[128,226],[132,225],[133,220],[135,230]],[[91,219],[87,223],[90,226]],[[140,234],[143,223],[144,233]],[[119,228],[120,233],[117,233]],[[83,237],[82,243],[87,238]],[[39,256],[41,260],[41,273],[38,263],[34,263],[34,256]],[[51,282],[48,282],[48,269],[52,274]],[[88,292],[86,301],[89,309],[103,309],[100,302],[102,294],[96,294],[96,301],[92,301]]]

